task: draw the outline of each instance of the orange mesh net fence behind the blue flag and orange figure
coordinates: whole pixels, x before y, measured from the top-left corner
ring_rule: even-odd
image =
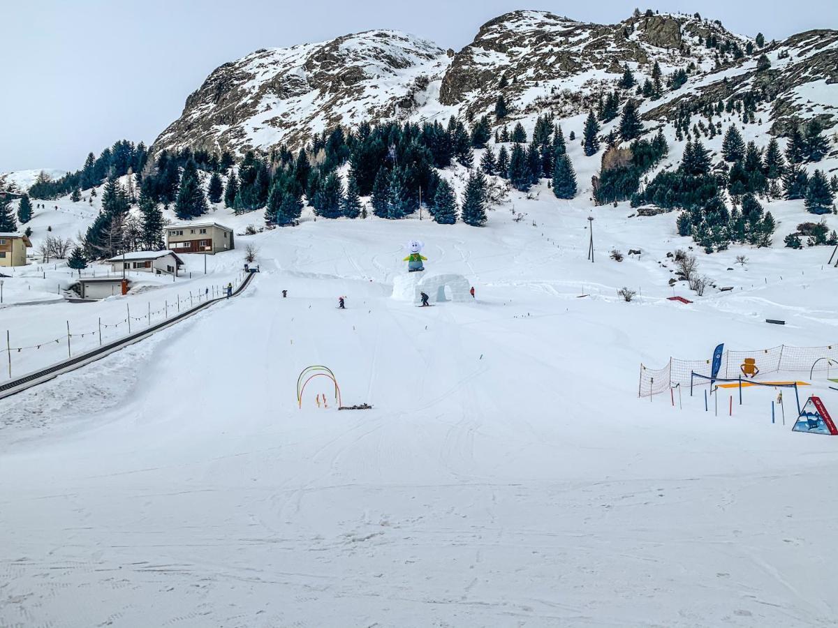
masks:
[[[830,370],[838,373],[838,344],[825,347],[790,347],[784,344],[770,349],[726,351],[722,353],[722,368],[719,369],[718,377],[739,377],[746,358],[753,360],[749,364],[758,369],[759,375],[779,372],[808,374],[813,367],[815,373]],[[691,373],[709,378],[710,370],[710,357],[706,360],[670,358],[664,368],[648,368],[641,364],[638,395],[648,397],[650,394],[663,393],[677,384],[689,386]],[[707,382],[704,380],[702,383]]]

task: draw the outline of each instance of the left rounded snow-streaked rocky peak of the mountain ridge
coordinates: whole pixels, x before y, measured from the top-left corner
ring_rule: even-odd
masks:
[[[162,148],[241,153],[308,141],[313,132],[399,116],[424,99],[423,75],[442,74],[445,51],[396,31],[262,49],[224,64],[186,100],[154,142]],[[417,81],[418,80],[418,81]]]

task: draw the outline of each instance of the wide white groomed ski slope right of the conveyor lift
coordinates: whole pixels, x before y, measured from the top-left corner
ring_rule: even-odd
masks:
[[[683,306],[674,214],[597,209],[592,265],[587,208],[515,208],[237,239],[240,298],[0,404],[0,625],[834,625],[838,439],[772,425],[771,389],[637,397],[641,362],[838,340],[829,251],[700,255],[736,287]],[[392,300],[409,239],[477,299]],[[321,378],[297,409],[312,364],[375,408]]]

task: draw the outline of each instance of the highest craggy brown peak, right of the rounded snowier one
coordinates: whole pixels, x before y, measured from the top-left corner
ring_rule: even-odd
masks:
[[[577,87],[588,79],[613,79],[609,75],[622,73],[626,63],[646,68],[647,74],[655,60],[667,68],[692,63],[709,71],[710,54],[698,45],[698,38],[708,33],[742,46],[747,41],[716,23],[686,16],[635,17],[602,25],[541,11],[506,13],[480,27],[473,42],[455,55],[439,100],[473,112],[483,110],[500,91],[511,103],[533,90],[546,101],[568,87],[568,78],[577,77]]]

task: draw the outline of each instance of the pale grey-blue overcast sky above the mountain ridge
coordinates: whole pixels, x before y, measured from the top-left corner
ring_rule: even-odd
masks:
[[[647,5],[639,5],[645,9]],[[783,39],[838,28],[835,0],[666,0],[650,5]],[[518,8],[614,23],[616,0],[0,0],[0,172],[76,169],[117,139],[150,144],[220,64],[259,48],[397,28],[442,48],[468,44],[480,24]]]

